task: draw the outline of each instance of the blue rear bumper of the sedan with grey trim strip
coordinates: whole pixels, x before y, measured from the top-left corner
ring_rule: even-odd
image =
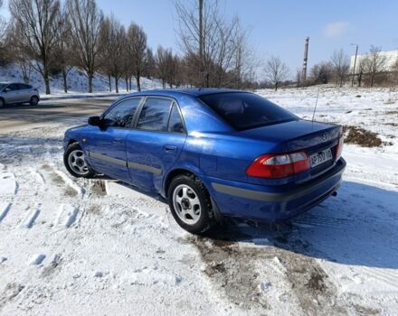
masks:
[[[346,161],[316,179],[289,186],[263,186],[236,181],[206,179],[213,200],[226,216],[278,221],[311,209],[338,189]]]

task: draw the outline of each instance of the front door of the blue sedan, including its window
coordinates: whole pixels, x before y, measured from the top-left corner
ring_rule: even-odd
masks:
[[[101,116],[100,126],[90,126],[86,137],[86,154],[97,172],[129,181],[126,138],[142,98],[123,99]]]

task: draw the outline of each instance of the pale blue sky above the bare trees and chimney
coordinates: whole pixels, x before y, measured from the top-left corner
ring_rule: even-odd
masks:
[[[142,25],[154,49],[161,44],[178,51],[173,0],[97,1],[105,14],[115,14],[126,25],[130,21]],[[227,16],[239,15],[261,60],[278,55],[292,74],[302,64],[306,36],[309,67],[328,59],[335,49],[354,53],[351,42],[359,44],[359,52],[371,44],[398,49],[398,1],[220,0],[220,4]]]

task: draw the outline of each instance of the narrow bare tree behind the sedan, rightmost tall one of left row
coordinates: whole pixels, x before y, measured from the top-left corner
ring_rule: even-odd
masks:
[[[136,78],[138,91],[141,91],[140,79],[145,71],[147,62],[147,34],[136,23],[130,23],[127,42],[129,62],[132,64],[132,74]]]

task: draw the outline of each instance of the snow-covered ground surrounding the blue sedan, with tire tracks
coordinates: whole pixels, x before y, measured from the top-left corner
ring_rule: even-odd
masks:
[[[259,94],[311,118],[317,88]],[[83,118],[0,135],[0,314],[396,315],[398,93],[321,88],[316,119],[384,143],[345,144],[338,195],[299,218],[208,237],[162,200],[71,178],[62,135]]]

